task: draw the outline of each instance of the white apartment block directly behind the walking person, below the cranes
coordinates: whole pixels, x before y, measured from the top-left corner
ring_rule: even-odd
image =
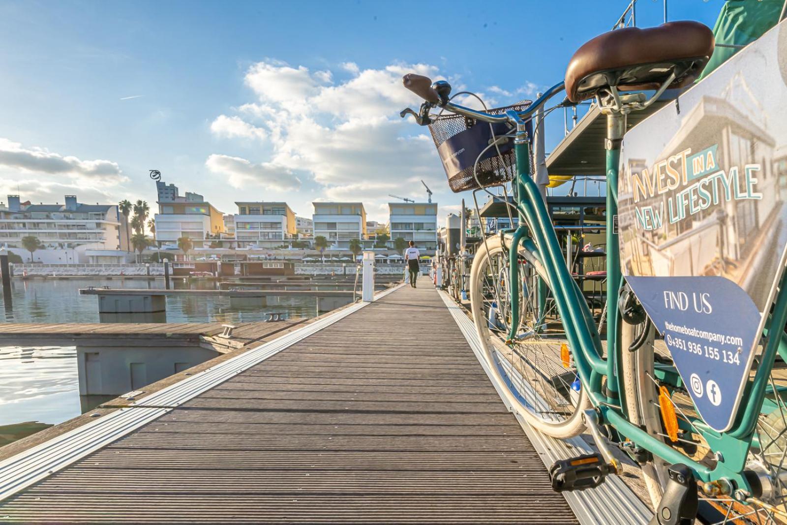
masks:
[[[390,202],[390,238],[415,241],[424,255],[434,255],[438,242],[436,202]]]

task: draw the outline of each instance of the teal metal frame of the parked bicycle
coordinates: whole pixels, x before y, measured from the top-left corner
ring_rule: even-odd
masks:
[[[686,464],[691,468],[697,479],[703,482],[726,480],[733,490],[744,490],[752,493],[752,486],[744,475],[745,462],[752,437],[756,428],[757,417],[767,394],[770,371],[773,368],[776,354],[787,360],[787,337],[781,327],[787,323],[787,275],[781,279],[781,286],[773,312],[767,324],[767,343],[764,346],[759,368],[753,380],[748,382],[744,398],[738,409],[737,417],[730,431],[723,434],[712,431],[702,420],[694,420],[693,426],[700,431],[708,442],[711,450],[717,454],[716,467],[711,469],[700,464],[684,453],[668,446],[660,439],[643,431],[627,419],[620,400],[620,377],[623,377],[619,356],[628,349],[621,348],[618,331],[619,315],[617,294],[622,275],[619,264],[619,242],[616,228],[618,213],[618,173],[620,146],[626,129],[626,115],[615,109],[605,109],[608,119],[608,137],[606,140],[606,172],[607,172],[607,310],[608,329],[607,357],[603,355],[601,339],[593,316],[582,296],[560,250],[556,231],[552,227],[545,200],[538,190],[538,185],[530,177],[529,138],[524,128],[522,115],[509,112],[508,118],[517,123],[514,148],[516,158],[516,176],[513,183],[515,205],[519,214],[519,227],[504,235],[508,242],[508,257],[516,261],[519,246],[527,243],[538,263],[543,266],[549,283],[552,297],[566,327],[566,338],[574,357],[582,387],[588,389],[593,405],[597,408],[600,422],[615,428],[620,436],[628,438],[636,446],[661,457],[671,464]],[[511,309],[512,323],[508,334],[508,343],[515,341],[519,329],[519,282],[517,264],[510,264],[510,282],[512,287]],[[541,294],[539,294],[541,295]],[[539,300],[541,302],[541,300]],[[539,305],[541,307],[541,305]],[[770,326],[775,327],[770,330]],[[677,376],[677,375],[676,375]],[[606,385],[602,387],[602,379]],[[677,386],[677,385],[675,385]],[[781,395],[773,393],[775,395]],[[732,490],[729,490],[732,492]],[[743,494],[743,493],[741,493]],[[736,494],[737,497],[737,494]]]

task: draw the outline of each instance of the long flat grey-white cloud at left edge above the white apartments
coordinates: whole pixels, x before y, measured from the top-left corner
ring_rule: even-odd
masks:
[[[90,179],[91,183],[112,185],[127,180],[113,161],[83,161],[73,156],[52,153],[40,147],[23,147],[19,142],[0,139],[0,166],[47,175]]]

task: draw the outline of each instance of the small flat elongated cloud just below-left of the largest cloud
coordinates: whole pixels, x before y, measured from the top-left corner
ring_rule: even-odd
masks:
[[[246,187],[255,184],[273,190],[297,190],[301,181],[289,169],[272,163],[253,164],[241,157],[212,154],[205,166],[219,175],[227,176],[232,187]]]

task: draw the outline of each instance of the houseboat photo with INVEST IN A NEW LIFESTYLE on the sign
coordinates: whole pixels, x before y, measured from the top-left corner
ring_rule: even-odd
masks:
[[[626,135],[626,275],[720,275],[765,307],[787,238],[785,29],[766,39]]]

